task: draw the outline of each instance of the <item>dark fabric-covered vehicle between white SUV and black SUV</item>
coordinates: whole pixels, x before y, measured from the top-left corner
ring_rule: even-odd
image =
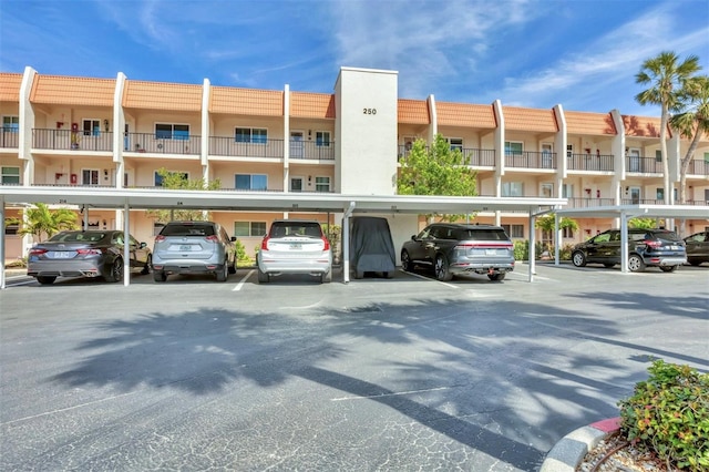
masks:
[[[387,218],[350,218],[350,265],[358,273],[393,273],[397,253]]]

